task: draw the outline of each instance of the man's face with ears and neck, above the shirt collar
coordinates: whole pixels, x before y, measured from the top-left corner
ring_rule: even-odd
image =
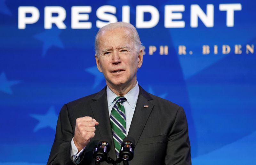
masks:
[[[142,50],[135,50],[130,35],[126,28],[103,31],[100,35],[99,55],[95,59],[108,86],[136,84],[143,55]]]

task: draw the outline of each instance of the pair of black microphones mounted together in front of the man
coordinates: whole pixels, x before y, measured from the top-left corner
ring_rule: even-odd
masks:
[[[124,164],[128,164],[128,161],[131,161],[133,159],[135,140],[132,137],[124,138],[121,144],[121,149],[119,151],[119,158],[116,161],[108,157],[111,143],[112,140],[108,136],[104,136],[101,138],[100,142],[92,153],[96,165],[99,165],[100,162],[103,161],[107,161],[108,163],[114,165],[116,163],[120,163],[121,161],[123,161]]]

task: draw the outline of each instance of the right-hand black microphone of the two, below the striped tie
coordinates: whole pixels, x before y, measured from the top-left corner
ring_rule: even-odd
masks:
[[[124,165],[128,164],[128,161],[131,161],[133,159],[134,145],[135,140],[132,137],[124,138],[119,152],[119,161],[123,161]]]

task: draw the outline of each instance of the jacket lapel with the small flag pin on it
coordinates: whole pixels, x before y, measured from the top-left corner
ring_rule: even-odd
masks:
[[[129,137],[134,138],[135,146],[138,143],[140,135],[153,109],[154,104],[149,102],[149,100],[152,100],[152,99],[153,98],[145,90],[143,90],[140,87],[140,93],[139,93],[136,108],[132,117],[132,123],[127,135]],[[144,107],[144,105],[148,107]]]

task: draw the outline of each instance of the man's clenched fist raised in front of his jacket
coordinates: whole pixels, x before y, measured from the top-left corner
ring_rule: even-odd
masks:
[[[95,125],[99,125],[92,117],[80,117],[76,119],[76,129],[74,136],[74,143],[78,152],[80,152],[95,135]]]

